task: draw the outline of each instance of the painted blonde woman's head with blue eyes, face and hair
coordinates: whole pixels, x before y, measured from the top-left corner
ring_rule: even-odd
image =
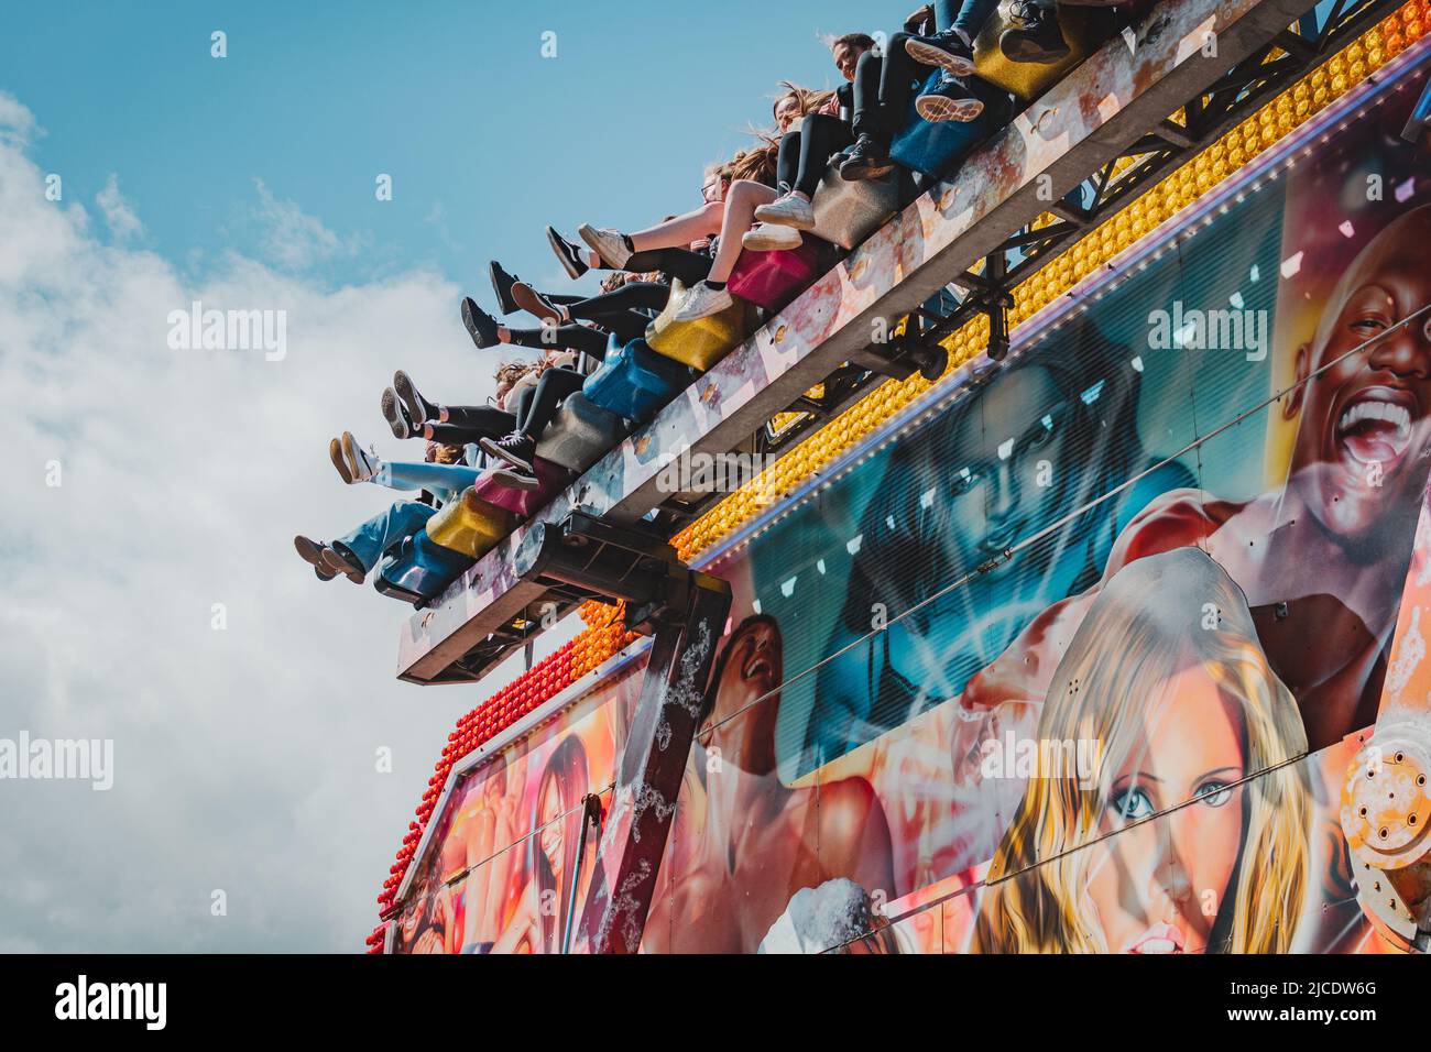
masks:
[[[1099,590],[1037,733],[1103,741],[1102,770],[1092,789],[1029,780],[977,896],[973,949],[1289,948],[1292,926],[1249,903],[1307,887],[1308,796],[1281,767],[1307,739],[1242,591],[1206,552],[1136,560]],[[1255,867],[1261,849],[1276,857]]]

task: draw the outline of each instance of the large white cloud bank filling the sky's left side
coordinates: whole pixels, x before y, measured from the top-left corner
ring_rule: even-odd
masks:
[[[9,96],[0,122],[34,126]],[[292,535],[391,497],[338,481],[331,435],[421,457],[378,414],[395,368],[481,402],[495,359],[439,275],[328,292],[233,258],[190,285],[41,180],[0,142],[0,737],[109,737],[116,771],[107,793],[0,781],[0,950],[358,950],[445,733],[487,690],[399,684],[409,610],[319,584]],[[305,229],[308,252],[332,245]],[[166,316],[195,299],[286,311],[288,356],[170,351]]]

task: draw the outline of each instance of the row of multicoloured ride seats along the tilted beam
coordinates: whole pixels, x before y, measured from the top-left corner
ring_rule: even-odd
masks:
[[[1143,7],[1149,0],[1138,0]],[[977,76],[969,79],[983,100],[972,122],[927,122],[910,103],[904,129],[890,143],[900,167],[884,179],[847,182],[836,156],[811,202],[814,228],[798,248],[741,252],[727,288],[734,303],[693,322],[673,322],[684,286],[674,282],[665,309],[644,338],[621,345],[615,336],[601,366],[581,391],[561,404],[537,441],[535,490],[499,484],[492,471],[448,502],[426,528],[398,545],[384,560],[375,587],[385,595],[421,607],[456,580],[472,562],[501,542],[518,521],[529,518],[587,471],[633,429],[647,424],[700,374],[711,369],[761,322],[804,292],[839,256],[853,250],[932,182],[952,172],[979,145],[1009,125],[1016,99],[1030,102],[1060,80],[1098,46],[1126,24],[1135,4],[1060,7],[1060,26],[1070,44],[1053,64],[1012,63],[999,52],[999,34],[1009,26],[1002,6],[975,42]],[[937,87],[934,70],[920,93]],[[919,93],[916,93],[917,96]]]

